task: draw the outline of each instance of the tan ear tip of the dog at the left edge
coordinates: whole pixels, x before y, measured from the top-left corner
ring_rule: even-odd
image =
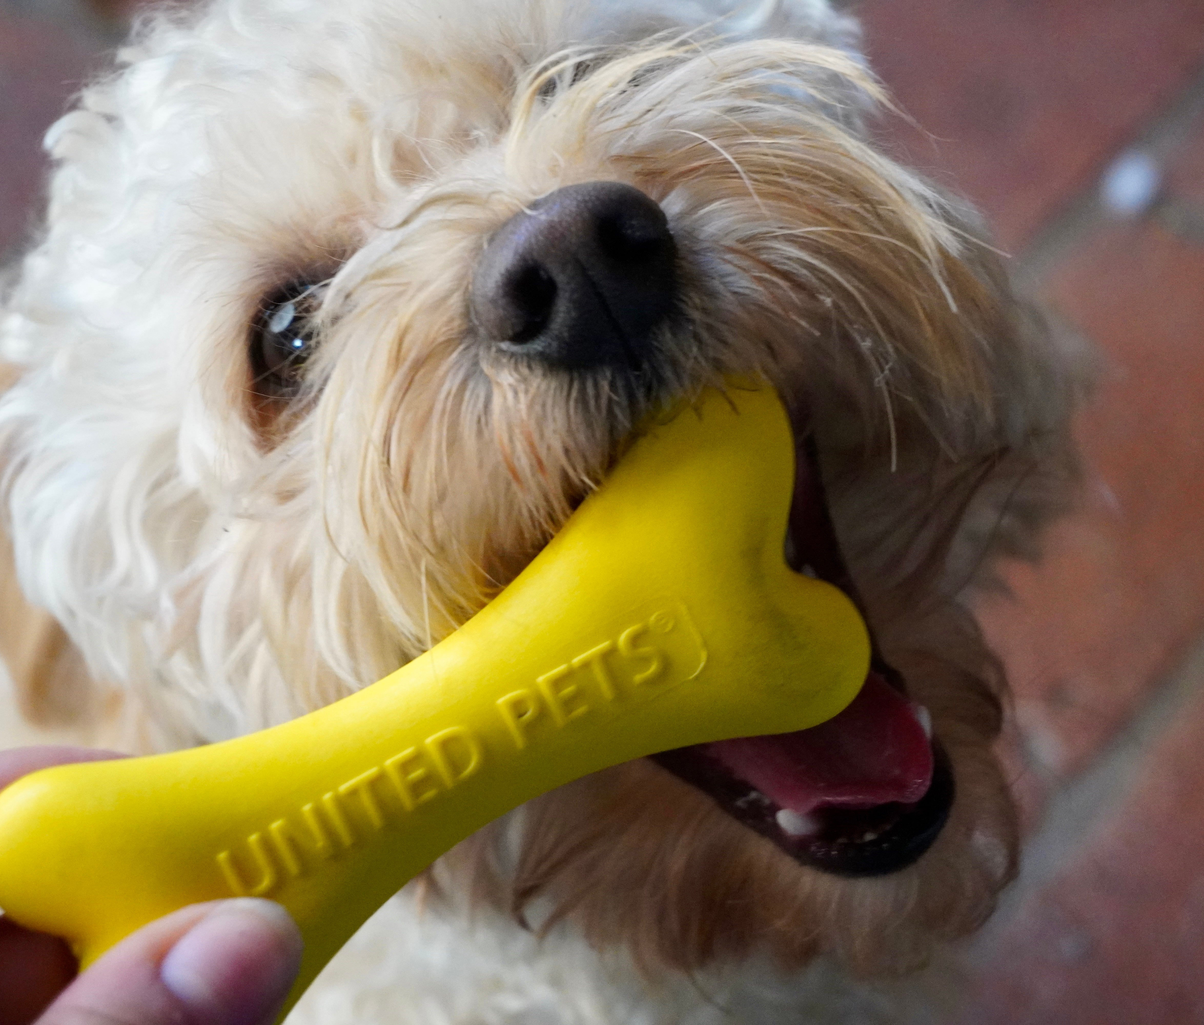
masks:
[[[17,379],[0,363],[0,391]],[[8,537],[0,534],[0,662],[12,681],[17,711],[31,726],[79,724],[92,711],[96,688],[83,656],[48,612],[31,606],[17,582]]]

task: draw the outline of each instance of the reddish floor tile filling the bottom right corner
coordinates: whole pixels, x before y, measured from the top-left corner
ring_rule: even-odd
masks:
[[[1020,909],[958,1025],[1204,1023],[1204,697]]]

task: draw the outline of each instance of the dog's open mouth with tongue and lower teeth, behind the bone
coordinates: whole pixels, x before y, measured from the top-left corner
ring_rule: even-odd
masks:
[[[862,609],[824,496],[815,447],[798,444],[786,561]],[[868,623],[868,619],[867,619]],[[654,761],[796,861],[838,876],[905,868],[949,817],[954,777],[927,709],[874,647],[852,703],[809,730],[678,748]]]

